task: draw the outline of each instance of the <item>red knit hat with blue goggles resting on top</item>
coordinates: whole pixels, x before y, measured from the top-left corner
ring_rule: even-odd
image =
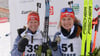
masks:
[[[74,11],[72,8],[63,8],[61,10],[60,21],[63,17],[72,17],[75,20]]]

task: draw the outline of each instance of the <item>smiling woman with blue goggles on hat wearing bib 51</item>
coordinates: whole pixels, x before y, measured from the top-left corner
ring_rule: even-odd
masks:
[[[72,8],[61,10],[59,28],[60,31],[55,34],[52,44],[53,56],[79,56],[82,26]]]

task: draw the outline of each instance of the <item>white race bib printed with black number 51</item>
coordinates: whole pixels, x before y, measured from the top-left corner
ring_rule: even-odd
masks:
[[[63,56],[80,56],[81,54],[81,39],[73,38],[67,39],[61,38],[60,42],[61,52]]]

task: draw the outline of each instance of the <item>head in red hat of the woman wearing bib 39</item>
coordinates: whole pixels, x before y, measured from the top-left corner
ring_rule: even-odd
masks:
[[[37,31],[40,24],[39,14],[35,11],[32,11],[28,14],[27,17],[27,26],[34,33]]]

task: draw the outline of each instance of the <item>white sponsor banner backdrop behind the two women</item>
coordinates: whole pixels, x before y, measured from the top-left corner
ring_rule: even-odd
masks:
[[[60,10],[65,7],[70,7],[68,2],[71,0],[50,0],[50,22],[49,22],[49,36],[53,39],[55,32],[59,31],[59,19]],[[14,40],[17,37],[17,29],[22,28],[27,23],[27,15],[30,11],[37,11],[37,3],[41,4],[41,8],[38,9],[40,16],[40,29],[44,28],[44,16],[45,16],[45,0],[9,0],[10,10],[10,30],[11,30],[11,46],[14,44]],[[97,10],[100,10],[100,1],[93,0],[93,18],[97,16]],[[14,4],[14,5],[13,5]],[[83,20],[83,5],[81,0],[73,0],[73,9],[75,16],[82,23]],[[100,29],[100,28],[99,28]],[[98,32],[100,33],[100,31]],[[93,35],[94,37],[94,31]],[[93,38],[92,38],[93,39]],[[100,46],[99,34],[97,34],[96,46]]]

